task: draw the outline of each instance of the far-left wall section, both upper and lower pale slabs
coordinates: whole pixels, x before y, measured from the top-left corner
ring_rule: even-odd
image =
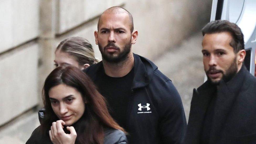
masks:
[[[0,125],[38,104],[39,0],[0,1]],[[28,41],[34,42],[28,42]]]

